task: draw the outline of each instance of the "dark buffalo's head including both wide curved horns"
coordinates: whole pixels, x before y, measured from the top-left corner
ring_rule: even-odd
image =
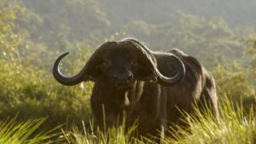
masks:
[[[59,63],[66,55],[68,53],[55,60],[53,66],[55,79],[64,85],[91,80],[101,82],[109,89],[131,89],[136,81],[154,81],[169,86],[177,84],[185,75],[183,62],[172,54],[179,71],[172,78],[162,75],[157,68],[156,54],[132,38],[102,44],[73,77],[66,77],[59,71]]]

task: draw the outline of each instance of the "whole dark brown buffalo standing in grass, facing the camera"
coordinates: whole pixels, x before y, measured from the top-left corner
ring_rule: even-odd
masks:
[[[55,60],[53,75],[64,85],[95,82],[91,108],[102,129],[125,118],[126,128],[137,122],[138,135],[158,135],[183,118],[180,110],[193,112],[195,103],[218,115],[212,74],[179,49],[154,52],[133,38],[104,43],[70,78],[58,70],[67,54]]]

